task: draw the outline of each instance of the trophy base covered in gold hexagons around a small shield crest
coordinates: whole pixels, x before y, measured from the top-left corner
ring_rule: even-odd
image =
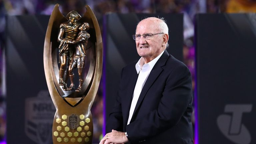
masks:
[[[56,112],[53,122],[53,144],[91,144],[93,124],[91,113]]]

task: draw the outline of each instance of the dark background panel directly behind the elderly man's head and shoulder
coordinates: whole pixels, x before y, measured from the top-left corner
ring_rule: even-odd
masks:
[[[146,17],[165,18],[169,27],[167,51],[177,59],[183,60],[183,14],[106,15],[104,17],[106,120],[116,98],[122,68],[140,58],[132,35],[135,34],[137,23]]]

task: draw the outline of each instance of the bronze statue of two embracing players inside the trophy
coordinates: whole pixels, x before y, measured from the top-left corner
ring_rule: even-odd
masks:
[[[77,67],[79,75],[79,86],[76,92],[80,92],[83,84],[83,68],[86,56],[86,46],[90,34],[87,30],[90,28],[89,24],[84,22],[78,23],[81,16],[76,11],[71,11],[68,21],[60,24],[60,31],[58,34],[59,45],[59,85],[63,90],[73,90],[74,73],[72,70]],[[64,74],[66,72],[66,77]],[[70,78],[70,86],[67,87],[67,79]]]

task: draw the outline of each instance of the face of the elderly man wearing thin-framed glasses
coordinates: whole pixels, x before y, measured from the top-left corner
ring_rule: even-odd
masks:
[[[136,34],[162,33],[158,26],[152,20],[143,20],[137,25]],[[156,58],[164,48],[162,48],[163,34],[153,35],[151,39],[146,40],[143,36],[136,40],[137,52],[141,57],[149,62]]]

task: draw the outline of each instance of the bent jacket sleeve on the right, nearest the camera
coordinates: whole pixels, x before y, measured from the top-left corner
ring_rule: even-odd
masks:
[[[129,141],[136,143],[152,138],[175,126],[191,101],[191,74],[185,65],[180,65],[173,69],[167,77],[158,109],[126,126]]]

